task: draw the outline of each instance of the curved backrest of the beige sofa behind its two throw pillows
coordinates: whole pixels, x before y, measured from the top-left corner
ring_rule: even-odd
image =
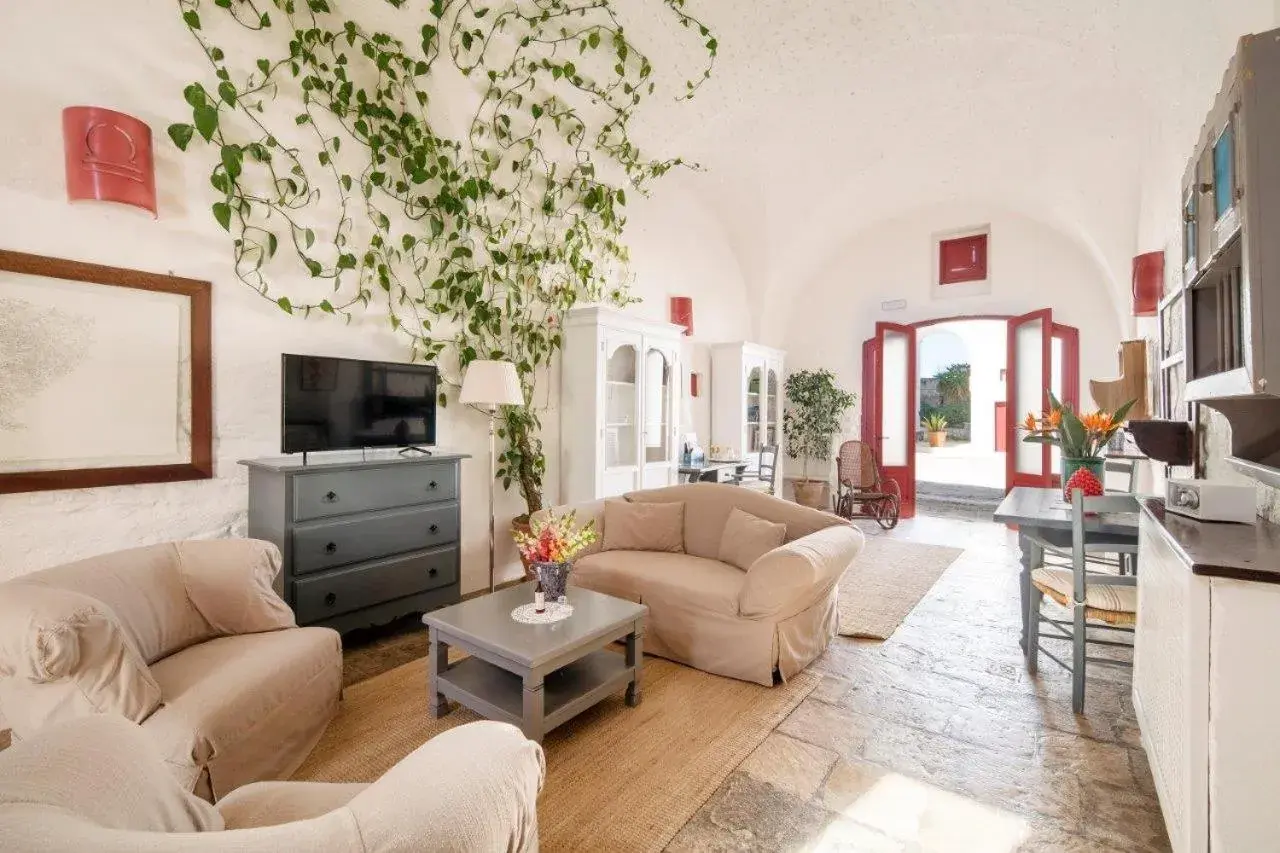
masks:
[[[719,558],[721,535],[733,507],[787,525],[787,542],[832,525],[847,524],[829,512],[810,510],[739,485],[718,483],[682,483],[660,489],[631,492],[626,497],[635,503],[684,503],[685,552],[709,560]]]

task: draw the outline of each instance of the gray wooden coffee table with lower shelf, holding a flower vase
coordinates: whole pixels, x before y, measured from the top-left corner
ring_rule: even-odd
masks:
[[[422,616],[431,633],[431,716],[449,699],[489,720],[511,722],[525,736],[543,735],[626,686],[640,703],[641,640],[649,608],[590,589],[568,589],[573,615],[549,625],[525,625],[511,611],[534,599],[526,583]],[[604,647],[626,640],[626,654]],[[449,665],[449,647],[470,657]]]

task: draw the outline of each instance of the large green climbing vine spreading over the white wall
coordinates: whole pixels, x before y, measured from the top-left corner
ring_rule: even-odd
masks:
[[[677,92],[691,97],[712,73],[716,37],[685,0],[652,3],[705,54]],[[539,510],[534,379],[576,302],[634,301],[627,191],[684,165],[631,138],[658,74],[614,0],[415,10],[404,0],[178,0],[178,12],[212,76],[183,90],[191,120],[169,136],[216,155],[211,214],[230,233],[236,274],[289,314],[375,311],[417,359],[458,371],[513,361],[526,405],[504,412],[499,478]],[[306,275],[291,291],[282,278],[296,270]]]

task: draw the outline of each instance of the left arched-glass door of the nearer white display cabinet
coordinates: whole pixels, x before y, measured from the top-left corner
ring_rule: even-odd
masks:
[[[613,329],[604,333],[600,485],[605,497],[630,492],[639,484],[643,428],[641,345],[641,337],[635,333]]]

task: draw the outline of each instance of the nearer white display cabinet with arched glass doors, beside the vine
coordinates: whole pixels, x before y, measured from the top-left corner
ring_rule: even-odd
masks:
[[[682,327],[605,307],[564,320],[561,500],[677,482]]]

